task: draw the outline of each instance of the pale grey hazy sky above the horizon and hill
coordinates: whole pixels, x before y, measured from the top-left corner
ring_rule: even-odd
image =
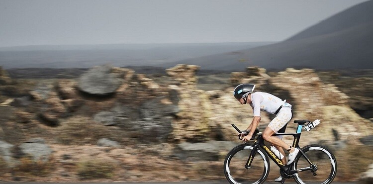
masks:
[[[367,0],[0,0],[0,47],[281,41]]]

